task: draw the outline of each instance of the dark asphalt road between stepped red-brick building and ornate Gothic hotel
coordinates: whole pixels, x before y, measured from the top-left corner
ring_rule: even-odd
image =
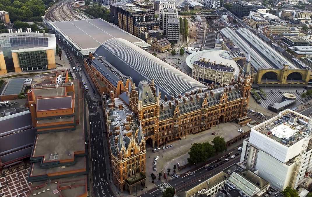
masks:
[[[111,189],[110,183],[110,173],[108,172],[109,167],[106,167],[109,163],[109,152],[107,151],[107,140],[106,140],[106,130],[105,126],[102,126],[103,116],[101,105],[96,100],[96,93],[93,93],[92,89],[94,87],[92,81],[89,79],[88,75],[85,72],[85,69],[80,66],[79,61],[76,57],[71,56],[71,53],[66,48],[66,46],[60,46],[65,51],[66,57],[69,60],[71,67],[78,66],[82,69],[80,72],[73,71],[76,74],[76,77],[79,81],[84,80],[86,85],[89,88],[89,91],[84,90],[85,102],[88,105],[88,122],[86,126],[89,127],[90,131],[90,157],[91,157],[91,172],[92,172],[92,184],[89,189],[94,191],[96,197],[113,197],[115,196],[114,192]],[[81,78],[79,77],[81,74]],[[89,161],[90,162],[90,161]]]

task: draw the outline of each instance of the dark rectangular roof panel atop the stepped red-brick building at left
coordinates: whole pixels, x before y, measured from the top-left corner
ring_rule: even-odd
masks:
[[[71,96],[37,99],[37,111],[72,108]]]

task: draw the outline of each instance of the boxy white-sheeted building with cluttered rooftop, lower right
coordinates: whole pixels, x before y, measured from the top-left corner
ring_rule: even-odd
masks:
[[[296,188],[311,171],[311,128],[310,118],[286,109],[251,128],[240,162],[278,190]]]

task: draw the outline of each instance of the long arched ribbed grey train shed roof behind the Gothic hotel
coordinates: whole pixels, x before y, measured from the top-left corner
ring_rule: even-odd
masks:
[[[95,55],[105,56],[110,64],[124,75],[130,76],[135,84],[146,77],[154,79],[162,92],[162,98],[164,95],[168,99],[171,95],[183,96],[186,92],[199,88],[207,90],[207,86],[121,38],[107,40],[95,50]]]

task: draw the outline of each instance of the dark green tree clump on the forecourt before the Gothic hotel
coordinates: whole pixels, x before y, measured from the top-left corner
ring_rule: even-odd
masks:
[[[215,154],[225,151],[226,148],[227,144],[224,141],[224,138],[221,138],[220,136],[214,137],[212,144],[209,142],[194,143],[190,152],[188,152],[190,155],[188,162],[195,164],[205,162],[208,158],[214,156]]]

